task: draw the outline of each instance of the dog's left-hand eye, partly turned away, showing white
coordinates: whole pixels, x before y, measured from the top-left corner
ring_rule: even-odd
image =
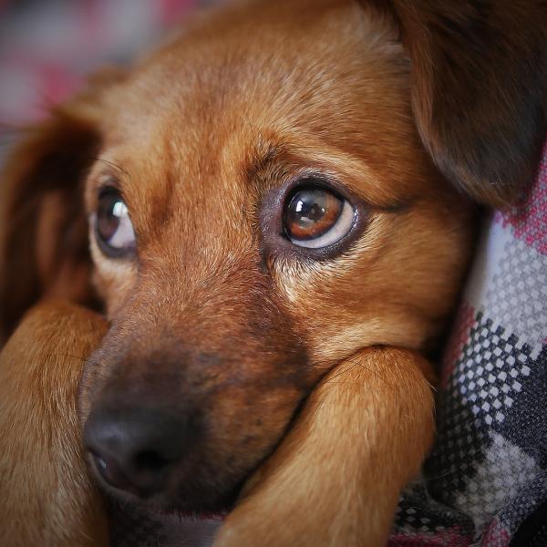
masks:
[[[98,196],[95,232],[99,247],[110,257],[118,258],[134,251],[135,232],[128,206],[114,188],[104,189]]]

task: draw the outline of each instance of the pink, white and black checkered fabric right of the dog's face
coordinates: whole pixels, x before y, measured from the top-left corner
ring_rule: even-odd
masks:
[[[547,546],[547,146],[528,201],[487,221],[390,547]]]

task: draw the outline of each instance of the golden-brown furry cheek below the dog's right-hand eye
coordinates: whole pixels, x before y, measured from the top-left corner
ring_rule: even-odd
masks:
[[[455,304],[475,233],[470,202],[431,192],[384,214],[329,261],[275,261],[274,282],[313,366],[372,345],[421,349]]]

